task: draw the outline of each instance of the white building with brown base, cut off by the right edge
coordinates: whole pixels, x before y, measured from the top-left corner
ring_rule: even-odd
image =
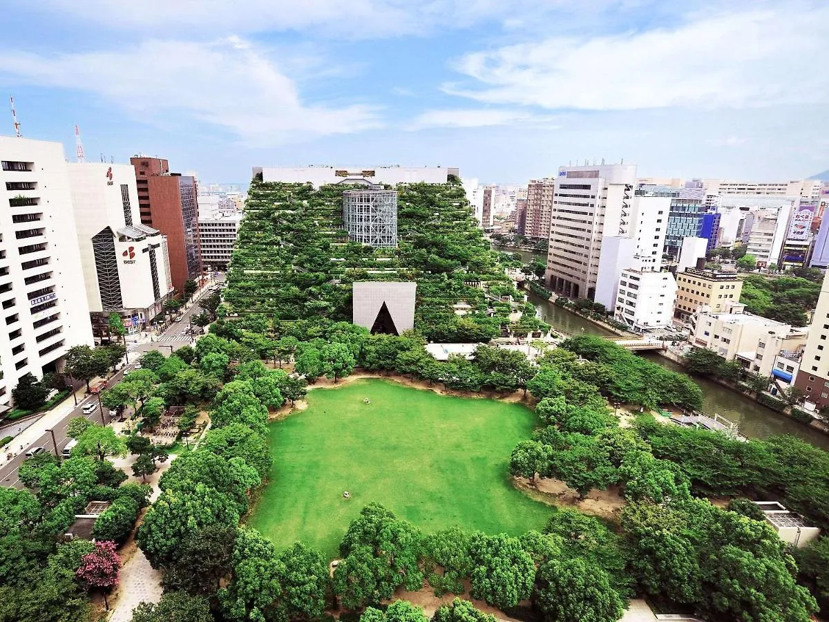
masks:
[[[803,391],[807,406],[829,406],[829,272],[823,276],[794,386]]]

